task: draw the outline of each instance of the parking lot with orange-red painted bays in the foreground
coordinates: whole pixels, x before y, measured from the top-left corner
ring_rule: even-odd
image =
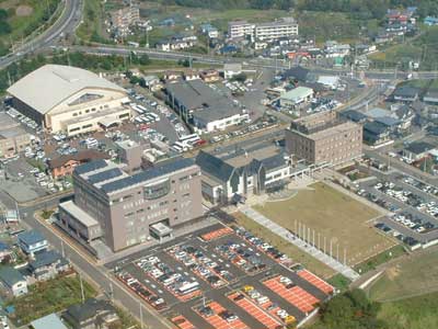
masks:
[[[260,238],[220,224],[107,266],[180,328],[281,328],[333,294]]]

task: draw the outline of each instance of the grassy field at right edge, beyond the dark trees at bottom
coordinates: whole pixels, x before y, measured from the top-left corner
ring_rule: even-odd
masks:
[[[404,258],[370,287],[374,300],[392,300],[438,291],[438,248]]]

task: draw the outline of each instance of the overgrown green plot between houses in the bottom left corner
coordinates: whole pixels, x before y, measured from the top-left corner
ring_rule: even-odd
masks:
[[[94,297],[96,292],[83,280],[85,299]],[[13,305],[14,321],[23,326],[30,321],[60,311],[68,306],[81,302],[79,276],[62,276],[30,286],[28,294],[7,303]]]

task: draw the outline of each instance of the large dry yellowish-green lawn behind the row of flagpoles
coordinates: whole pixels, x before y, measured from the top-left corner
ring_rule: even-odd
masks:
[[[296,231],[296,222],[326,237],[326,250],[330,240],[333,242],[333,253],[343,258],[347,250],[347,263],[350,265],[362,262],[374,254],[395,245],[394,241],[380,235],[369,223],[379,216],[373,208],[350,196],[324,184],[315,183],[287,201],[266,202],[254,207],[257,212],[276,222],[285,228]],[[323,238],[320,240],[323,246]]]

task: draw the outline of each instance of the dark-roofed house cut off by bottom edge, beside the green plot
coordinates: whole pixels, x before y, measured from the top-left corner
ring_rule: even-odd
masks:
[[[64,318],[73,329],[106,329],[119,321],[117,311],[110,302],[95,298],[68,307]]]

